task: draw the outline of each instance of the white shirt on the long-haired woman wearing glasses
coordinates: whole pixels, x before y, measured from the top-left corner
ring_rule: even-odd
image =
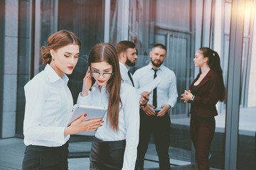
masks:
[[[96,82],[87,96],[78,95],[78,104],[107,108],[109,103],[108,96],[106,84],[102,86],[100,91]],[[122,169],[131,170],[135,167],[139,142],[139,98],[134,87],[125,83],[121,84],[120,98],[122,100],[122,108],[119,110],[119,131],[115,132],[110,128],[110,123],[107,123],[107,114],[105,114],[103,118],[105,122],[102,123],[102,127],[97,129],[95,137],[103,141],[126,140]],[[121,107],[121,103],[119,107]]]

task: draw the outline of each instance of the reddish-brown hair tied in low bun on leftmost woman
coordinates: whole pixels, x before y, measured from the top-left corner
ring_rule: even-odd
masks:
[[[66,45],[78,45],[79,49],[81,48],[81,42],[78,38],[78,35],[72,33],[68,30],[59,30],[47,40],[48,44],[46,46],[41,47],[41,57],[43,60],[43,64],[50,64],[52,60],[52,56],[50,55],[50,50],[58,50],[60,47],[64,47]]]

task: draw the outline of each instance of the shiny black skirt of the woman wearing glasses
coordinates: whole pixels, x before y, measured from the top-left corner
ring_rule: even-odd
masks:
[[[121,170],[125,145],[125,140],[102,141],[94,137],[90,153],[90,169]]]

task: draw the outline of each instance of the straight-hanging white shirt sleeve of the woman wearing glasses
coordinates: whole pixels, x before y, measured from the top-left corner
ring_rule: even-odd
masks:
[[[127,91],[123,101],[125,127],[127,130],[124,163],[122,169],[134,169],[137,159],[137,146],[139,143],[139,98],[137,91],[132,88]]]

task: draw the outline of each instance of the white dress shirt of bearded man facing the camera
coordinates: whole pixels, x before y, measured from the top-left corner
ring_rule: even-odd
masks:
[[[161,106],[163,105],[170,105],[173,108],[178,97],[174,72],[161,64],[156,72],[156,76],[161,78],[161,82],[157,85],[157,108],[154,110],[161,111]],[[142,88],[151,81],[154,81],[154,67],[151,63],[141,69],[137,69],[133,75],[133,80],[136,89]],[[149,95],[148,103],[153,105],[153,92]]]

